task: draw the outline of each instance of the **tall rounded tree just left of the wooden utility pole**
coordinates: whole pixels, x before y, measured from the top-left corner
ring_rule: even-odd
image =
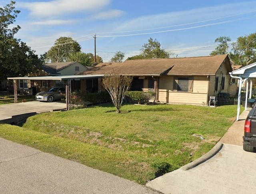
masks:
[[[52,63],[66,62],[71,53],[80,52],[80,50],[80,44],[72,38],[60,37],[55,41],[54,46],[47,51],[46,59]]]

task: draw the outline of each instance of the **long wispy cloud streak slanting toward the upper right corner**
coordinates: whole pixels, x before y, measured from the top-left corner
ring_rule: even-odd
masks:
[[[222,4],[219,6],[142,16],[142,17],[128,20],[127,22],[123,22],[123,24],[120,25],[117,30],[131,30],[131,29],[138,30],[138,29],[154,28],[154,26],[171,27],[171,25],[173,25],[172,27],[174,27],[177,24],[180,26],[180,28],[183,28],[184,26],[180,24],[188,24],[190,22],[193,23],[193,22],[198,22],[203,20],[212,20],[212,19],[221,18],[221,17],[226,17],[226,20],[228,20],[230,19],[229,16],[236,15],[236,14],[242,15],[243,13],[248,13],[248,12],[256,12],[256,1],[240,2],[240,3],[233,3],[233,4]],[[242,16],[237,16],[237,17],[242,17]],[[223,19],[224,18],[222,18],[222,20]],[[220,20],[215,20],[215,22],[216,21],[220,21]],[[214,22],[214,21],[211,21],[211,22]]]

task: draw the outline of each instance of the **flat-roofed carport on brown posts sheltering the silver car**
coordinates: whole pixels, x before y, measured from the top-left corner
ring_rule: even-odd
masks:
[[[104,75],[62,75],[62,76],[38,76],[38,77],[8,77],[9,81],[13,82],[14,86],[14,103],[17,103],[18,100],[18,90],[17,90],[17,80],[27,79],[27,80],[56,80],[61,81],[66,86],[66,109],[69,109],[69,92],[71,91],[71,80],[81,80],[81,79],[91,79],[98,78],[98,83],[100,84],[100,78]]]

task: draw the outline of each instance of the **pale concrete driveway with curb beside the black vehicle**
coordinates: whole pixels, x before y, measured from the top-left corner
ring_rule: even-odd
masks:
[[[240,115],[220,140],[223,144],[217,154],[186,170],[186,166],[158,177],[146,184],[164,194],[254,194],[256,192],[256,153],[242,147],[244,119],[249,111]],[[193,162],[189,165],[193,166]],[[185,170],[184,170],[185,169]]]

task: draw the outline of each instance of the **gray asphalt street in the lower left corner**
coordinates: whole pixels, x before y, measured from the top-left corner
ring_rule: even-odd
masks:
[[[1,194],[159,194],[146,186],[0,138]]]

